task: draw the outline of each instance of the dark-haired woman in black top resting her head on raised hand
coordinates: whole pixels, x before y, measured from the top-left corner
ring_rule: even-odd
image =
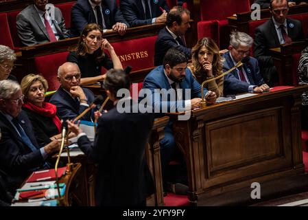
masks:
[[[102,67],[106,69],[123,69],[112,45],[103,39],[103,30],[96,23],[86,25],[75,50],[69,53],[67,61],[77,63],[82,73],[81,85],[89,85],[102,81]],[[104,50],[108,50],[111,60]]]

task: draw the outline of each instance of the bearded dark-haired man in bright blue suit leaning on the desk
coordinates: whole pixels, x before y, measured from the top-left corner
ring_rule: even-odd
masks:
[[[147,74],[143,81],[143,89],[149,89],[151,91],[152,99],[150,100],[152,101],[152,108],[155,109],[155,112],[164,113],[162,112],[163,109],[167,109],[168,112],[190,111],[191,109],[200,107],[201,85],[187,68],[187,57],[185,54],[175,48],[171,48],[165,54],[163,65],[156,67],[152,72]],[[143,89],[141,89],[141,93],[143,93]],[[171,97],[163,100],[163,97],[167,97],[170,91],[175,92],[176,99],[171,100],[171,95]],[[204,95],[208,104],[215,103],[215,92],[204,89]],[[160,146],[165,185],[168,177],[167,166],[171,159],[174,158],[177,148],[174,142],[171,122],[165,127],[164,131],[165,137],[161,140]]]

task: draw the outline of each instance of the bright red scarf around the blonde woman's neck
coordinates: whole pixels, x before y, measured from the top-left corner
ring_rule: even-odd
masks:
[[[25,104],[23,104],[23,107],[30,109],[31,111],[34,111],[35,113],[38,113],[45,117],[52,118],[52,121],[57,126],[59,133],[61,132],[61,121],[56,115],[57,113],[56,105],[51,104],[49,102],[43,102],[43,108],[41,108],[35,104],[32,104],[31,102],[25,102]]]

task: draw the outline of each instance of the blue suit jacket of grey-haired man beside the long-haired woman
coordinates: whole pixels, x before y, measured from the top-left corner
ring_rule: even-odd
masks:
[[[226,59],[223,66],[223,70],[226,72],[234,67],[234,63],[230,56],[230,52],[225,53],[223,57]],[[235,69],[233,72],[230,72],[230,74],[226,74],[226,76],[224,76],[225,95],[248,92],[248,87],[250,85],[259,86],[264,84],[264,80],[260,74],[258,61],[255,58],[250,57],[249,63],[245,63],[243,68],[245,69],[250,84],[239,80],[239,77],[237,76],[237,69]]]

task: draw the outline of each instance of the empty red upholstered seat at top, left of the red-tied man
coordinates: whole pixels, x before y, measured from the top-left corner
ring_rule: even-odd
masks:
[[[226,18],[235,13],[248,11],[250,11],[249,0],[200,1],[201,21],[217,20],[217,32],[219,33],[218,37],[220,49],[225,49],[228,47],[228,35],[230,33],[230,28],[228,27],[228,21]],[[199,31],[200,29],[198,28],[198,32]],[[198,36],[199,35],[201,34],[198,34]]]

